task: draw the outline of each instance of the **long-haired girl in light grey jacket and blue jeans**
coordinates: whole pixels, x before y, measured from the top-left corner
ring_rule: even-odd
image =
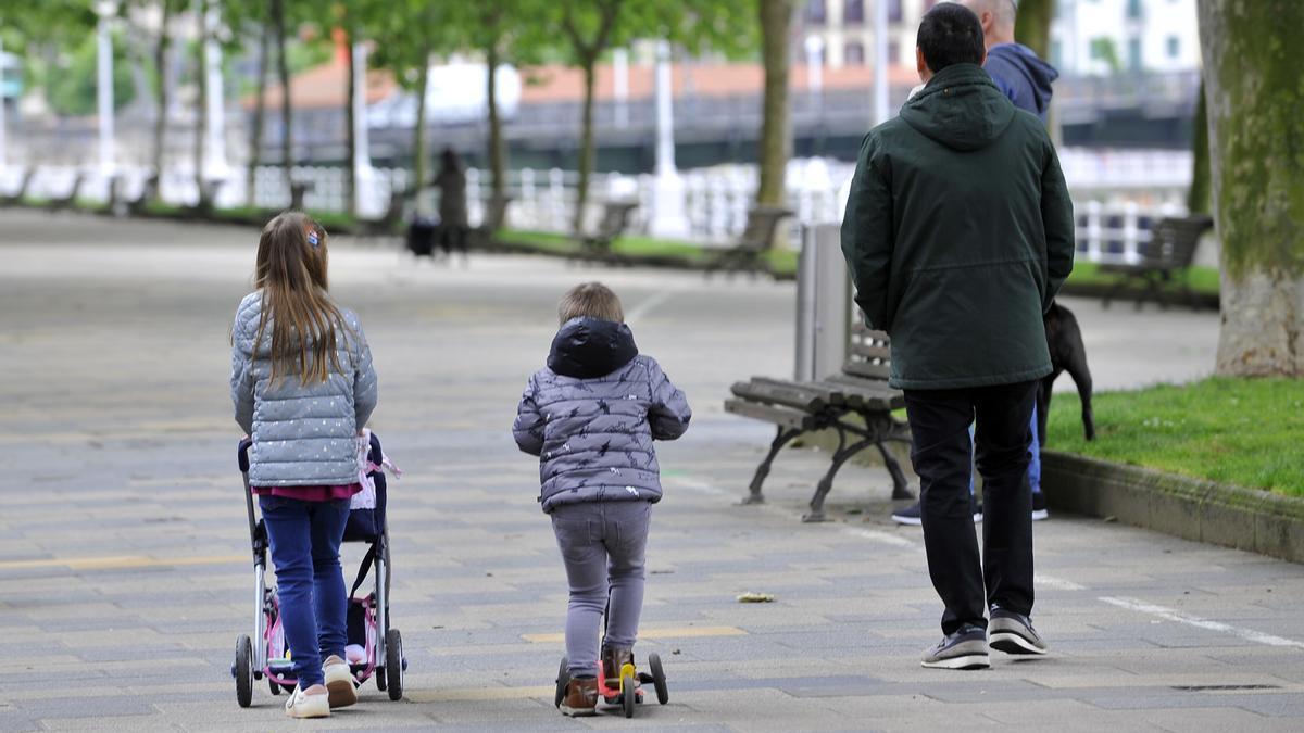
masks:
[[[357,436],[376,408],[376,370],[357,316],[327,293],[326,265],[321,226],[299,213],[273,219],[258,240],[258,290],[240,301],[231,331],[231,399],[253,440],[249,484],[299,680],[291,717],[357,702],[339,544],[363,489]]]

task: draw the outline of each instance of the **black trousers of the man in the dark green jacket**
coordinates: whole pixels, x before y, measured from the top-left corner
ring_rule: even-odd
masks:
[[[947,606],[944,634],[965,623],[986,627],[990,605],[1031,616],[1028,450],[1035,395],[1037,382],[905,390],[928,576]],[[969,505],[970,456],[983,479],[982,560]]]

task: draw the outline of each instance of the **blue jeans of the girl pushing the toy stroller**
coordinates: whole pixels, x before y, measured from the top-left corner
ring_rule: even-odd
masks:
[[[295,661],[299,689],[322,685],[322,660],[344,659],[348,600],[339,544],[348,500],[300,501],[258,497],[276,566],[280,625]]]

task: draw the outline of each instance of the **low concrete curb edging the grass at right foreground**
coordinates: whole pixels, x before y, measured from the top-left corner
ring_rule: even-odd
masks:
[[[1304,563],[1304,500],[1042,451],[1051,509]]]

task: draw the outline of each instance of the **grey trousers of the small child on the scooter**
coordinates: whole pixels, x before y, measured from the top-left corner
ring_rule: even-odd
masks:
[[[571,676],[597,674],[597,634],[606,612],[604,646],[632,648],[643,613],[643,554],[652,505],[605,501],[558,506],[552,513],[566,563],[566,657]]]

